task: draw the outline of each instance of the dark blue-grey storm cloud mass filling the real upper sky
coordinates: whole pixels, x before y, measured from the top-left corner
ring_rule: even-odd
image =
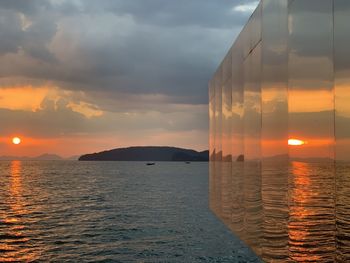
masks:
[[[205,104],[208,80],[250,15],[234,7],[251,2],[1,1],[0,68],[106,97]]]

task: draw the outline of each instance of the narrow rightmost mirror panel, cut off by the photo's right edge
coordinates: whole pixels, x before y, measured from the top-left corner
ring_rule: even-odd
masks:
[[[350,261],[350,1],[334,1],[337,262]]]

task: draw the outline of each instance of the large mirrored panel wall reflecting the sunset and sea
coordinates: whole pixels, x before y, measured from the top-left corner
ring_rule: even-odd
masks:
[[[350,261],[350,1],[262,0],[209,117],[212,211],[264,261]]]

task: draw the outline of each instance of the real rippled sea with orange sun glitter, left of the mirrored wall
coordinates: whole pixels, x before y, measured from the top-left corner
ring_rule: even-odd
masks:
[[[0,162],[0,262],[259,262],[208,209],[208,164]]]

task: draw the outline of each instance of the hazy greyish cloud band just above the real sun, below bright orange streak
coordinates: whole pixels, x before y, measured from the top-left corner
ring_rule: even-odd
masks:
[[[190,112],[190,113],[187,113]],[[132,130],[163,132],[207,132],[207,109],[205,106],[172,107],[164,112],[105,113],[87,118],[74,112],[64,98],[54,101],[45,98],[41,109],[31,112],[24,110],[0,109],[1,134],[11,135],[20,131],[26,136],[61,137],[79,134],[119,133]]]

